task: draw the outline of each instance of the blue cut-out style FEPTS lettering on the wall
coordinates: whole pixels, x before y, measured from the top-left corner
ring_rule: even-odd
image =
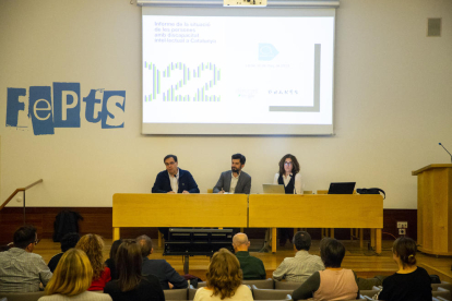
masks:
[[[91,89],[83,101],[87,122],[100,122],[102,129],[124,128],[126,91]],[[31,119],[35,135],[52,135],[55,128],[80,128],[81,103],[80,83],[31,86],[28,93],[9,87],[7,127],[28,128]],[[25,116],[22,122],[20,116]]]

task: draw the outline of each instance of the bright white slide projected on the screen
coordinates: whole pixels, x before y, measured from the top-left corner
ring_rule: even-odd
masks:
[[[331,16],[143,15],[143,133],[332,132],[333,53]]]

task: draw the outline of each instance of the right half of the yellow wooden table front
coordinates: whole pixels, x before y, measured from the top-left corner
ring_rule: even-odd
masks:
[[[383,228],[383,197],[377,194],[251,194],[249,227]]]

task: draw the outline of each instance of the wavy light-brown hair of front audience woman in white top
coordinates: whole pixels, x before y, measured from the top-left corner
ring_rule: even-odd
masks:
[[[226,249],[216,252],[207,267],[207,287],[213,296],[231,298],[241,285],[242,273],[237,257]]]

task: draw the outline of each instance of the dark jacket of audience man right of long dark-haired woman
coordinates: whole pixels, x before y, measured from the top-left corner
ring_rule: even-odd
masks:
[[[160,281],[163,289],[169,289],[168,282],[175,286],[175,289],[188,288],[188,281],[180,276],[176,269],[165,260],[150,260],[143,257],[143,275],[154,275]]]

